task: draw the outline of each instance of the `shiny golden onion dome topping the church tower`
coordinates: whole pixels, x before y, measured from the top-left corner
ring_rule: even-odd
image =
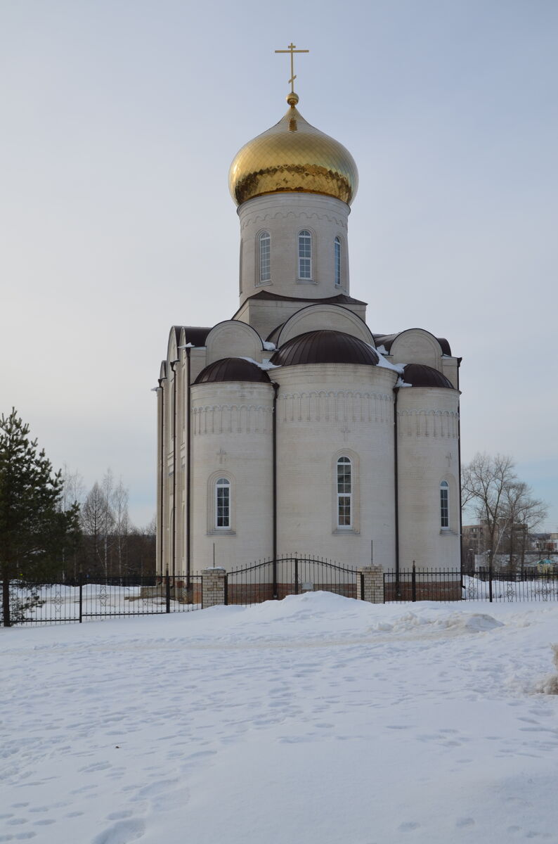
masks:
[[[266,193],[322,193],[351,204],[357,194],[355,160],[342,143],[310,126],[297,110],[298,95],[287,96],[282,119],[244,144],[228,171],[237,205]]]

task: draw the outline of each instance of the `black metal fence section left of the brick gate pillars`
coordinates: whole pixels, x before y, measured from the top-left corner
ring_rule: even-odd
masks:
[[[201,575],[99,577],[50,582],[13,580],[9,625],[67,624],[89,619],[155,615],[201,609]],[[0,608],[0,625],[4,625]]]

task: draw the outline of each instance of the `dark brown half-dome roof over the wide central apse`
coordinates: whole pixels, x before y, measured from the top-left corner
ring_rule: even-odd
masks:
[[[271,356],[280,366],[298,364],[366,364],[375,366],[378,354],[371,346],[342,331],[309,331],[287,340]]]

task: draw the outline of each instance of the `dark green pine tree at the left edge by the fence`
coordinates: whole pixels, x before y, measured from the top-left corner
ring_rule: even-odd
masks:
[[[9,584],[56,571],[62,550],[78,538],[78,504],[62,511],[62,473],[30,440],[15,408],[0,418],[0,575],[3,624],[10,624]]]

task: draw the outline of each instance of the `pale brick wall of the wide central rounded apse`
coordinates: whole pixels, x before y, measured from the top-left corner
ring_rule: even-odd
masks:
[[[387,369],[347,364],[274,371],[278,397],[279,555],[293,551],[346,565],[394,560],[393,386]],[[354,461],[352,530],[335,525],[335,466]]]

